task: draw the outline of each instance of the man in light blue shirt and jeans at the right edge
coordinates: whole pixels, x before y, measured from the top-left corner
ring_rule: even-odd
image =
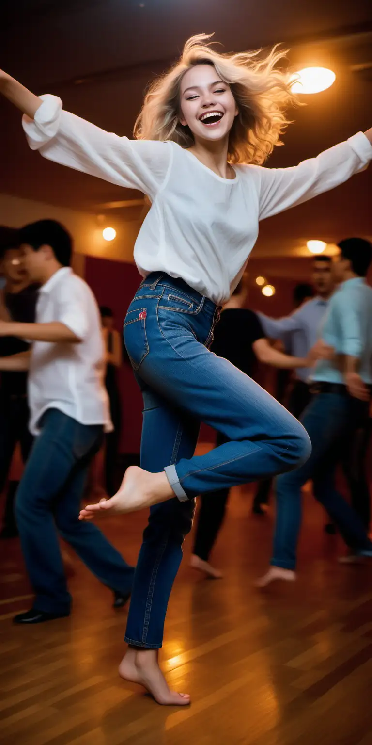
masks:
[[[321,360],[313,374],[313,393],[302,423],[312,454],[299,469],[278,477],[274,551],[269,572],[259,580],[295,579],[301,527],[301,488],[311,478],[321,501],[354,556],[372,556],[361,517],[335,488],[335,471],[347,459],[360,431],[366,431],[372,393],[372,288],[365,281],[372,245],[362,238],[339,243],[336,273],[343,284],[329,302],[318,343]],[[369,501],[369,495],[368,495]]]

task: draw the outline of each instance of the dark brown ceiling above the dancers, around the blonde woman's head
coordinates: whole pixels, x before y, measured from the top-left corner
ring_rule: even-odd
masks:
[[[34,92],[60,95],[65,108],[130,136],[147,83],[204,31],[227,51],[283,42],[293,66],[336,72],[332,88],[293,112],[286,145],[269,165],[294,165],[372,125],[372,4],[364,0],[2,0],[1,65]],[[0,116],[1,191],[91,211],[138,197],[31,153],[6,101]],[[261,240],[372,235],[371,186],[370,170],[267,221]]]

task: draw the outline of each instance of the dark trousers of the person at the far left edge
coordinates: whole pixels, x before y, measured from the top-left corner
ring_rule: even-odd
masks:
[[[0,493],[4,490],[13,460],[16,445],[19,443],[23,463],[26,463],[32,447],[32,435],[28,429],[29,410],[27,396],[0,396]],[[14,516],[14,496],[18,482],[11,482],[5,500],[3,529],[16,533]]]

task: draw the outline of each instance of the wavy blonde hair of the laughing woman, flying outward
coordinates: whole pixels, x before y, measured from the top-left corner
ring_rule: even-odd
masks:
[[[286,51],[274,47],[264,59],[258,58],[260,51],[220,54],[209,39],[207,34],[188,39],[176,65],[150,86],[135,122],[135,137],[173,140],[190,148],[193,134],[179,121],[182,77],[195,65],[213,65],[230,86],[239,110],[229,135],[228,160],[260,165],[275,145],[282,145],[280,135],[290,124],[286,109],[298,103],[291,89],[293,76],[276,67]]]

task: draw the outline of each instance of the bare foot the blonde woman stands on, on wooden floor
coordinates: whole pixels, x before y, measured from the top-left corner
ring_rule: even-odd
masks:
[[[158,663],[158,650],[128,647],[119,665],[119,675],[124,680],[142,685],[163,706],[187,706],[189,694],[170,691]]]

